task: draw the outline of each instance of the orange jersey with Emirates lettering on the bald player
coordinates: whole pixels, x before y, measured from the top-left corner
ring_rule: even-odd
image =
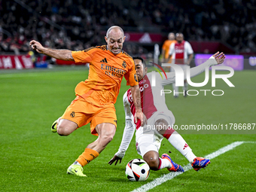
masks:
[[[88,79],[75,87],[75,93],[93,105],[115,103],[123,76],[127,85],[139,84],[133,58],[124,51],[114,55],[103,45],[72,51],[72,56],[75,62],[90,63]]]

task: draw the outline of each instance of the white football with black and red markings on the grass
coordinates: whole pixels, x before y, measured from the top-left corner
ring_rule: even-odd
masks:
[[[126,165],[125,174],[130,181],[146,181],[150,172],[148,163],[145,160],[130,160]]]

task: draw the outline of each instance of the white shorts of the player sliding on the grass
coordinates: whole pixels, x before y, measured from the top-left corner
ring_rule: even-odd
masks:
[[[147,125],[139,127],[136,131],[136,149],[142,158],[148,151],[156,151],[158,153],[160,149],[163,136],[154,129],[154,123],[159,119],[166,120],[168,126],[171,127],[175,123],[175,117],[172,111],[157,111],[148,119]]]

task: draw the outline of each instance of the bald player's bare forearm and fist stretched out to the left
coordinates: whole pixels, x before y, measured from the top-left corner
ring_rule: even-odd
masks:
[[[32,49],[36,50],[38,53],[43,53],[55,59],[75,61],[75,59],[72,56],[71,50],[53,50],[53,49],[42,46],[38,41],[35,41],[35,40],[30,41],[29,44],[32,47]]]

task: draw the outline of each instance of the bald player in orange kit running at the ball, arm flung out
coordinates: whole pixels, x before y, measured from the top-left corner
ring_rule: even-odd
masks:
[[[124,40],[123,29],[119,26],[111,26],[105,36],[107,45],[90,47],[87,50],[53,50],[43,47],[38,41],[30,41],[32,49],[38,53],[44,53],[56,59],[90,63],[88,79],[77,85],[75,100],[52,126],[53,133],[69,136],[78,127],[90,123],[91,133],[99,136],[95,142],[87,145],[75,163],[69,166],[67,170],[69,174],[86,176],[82,167],[98,157],[113,139],[117,126],[114,103],[123,76],[135,98],[135,119],[141,120],[142,124],[146,121],[143,120],[139,82],[133,58],[122,50]]]

